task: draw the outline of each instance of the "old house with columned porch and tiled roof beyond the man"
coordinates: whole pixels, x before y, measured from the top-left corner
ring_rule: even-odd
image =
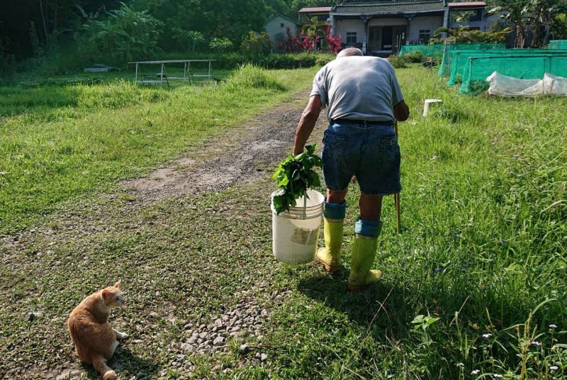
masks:
[[[458,4],[458,5],[453,5]],[[449,3],[444,0],[381,0],[333,6],[329,20],[345,47],[365,54],[391,55],[402,45],[425,44],[441,26],[466,25],[485,30],[484,1]],[[451,12],[468,12],[468,18],[451,21]],[[466,19],[466,21],[464,21]]]

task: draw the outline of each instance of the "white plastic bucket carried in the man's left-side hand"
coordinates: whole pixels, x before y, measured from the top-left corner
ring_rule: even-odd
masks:
[[[271,194],[271,230],[274,256],[288,264],[312,262],[317,253],[319,228],[325,196],[319,191],[308,190],[308,199],[296,199],[296,206],[279,215],[274,209]],[[305,205],[305,207],[304,207]]]

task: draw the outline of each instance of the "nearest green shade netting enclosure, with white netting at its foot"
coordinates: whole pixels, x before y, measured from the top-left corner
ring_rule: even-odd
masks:
[[[517,79],[542,79],[544,73],[567,77],[567,52],[563,55],[469,57],[463,69],[460,94],[475,92],[493,72]]]

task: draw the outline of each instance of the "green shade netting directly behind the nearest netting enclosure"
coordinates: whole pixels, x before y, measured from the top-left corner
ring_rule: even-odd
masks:
[[[452,50],[446,52],[443,57],[441,67],[439,67],[439,74],[449,74],[447,84],[454,86],[461,82],[463,77],[463,69],[470,57],[517,57],[522,55],[565,55],[565,50],[549,50],[549,49],[505,49],[505,50]],[[504,74],[500,67],[495,67],[493,71]],[[539,78],[541,79],[541,78]]]

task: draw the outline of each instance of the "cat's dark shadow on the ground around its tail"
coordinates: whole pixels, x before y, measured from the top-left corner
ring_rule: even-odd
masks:
[[[127,378],[135,376],[136,379],[154,379],[159,371],[159,365],[149,360],[137,357],[127,348],[118,347],[112,359],[108,361],[108,367],[114,369],[118,374],[126,373]],[[101,379],[90,364],[83,364],[86,376],[91,380]]]

